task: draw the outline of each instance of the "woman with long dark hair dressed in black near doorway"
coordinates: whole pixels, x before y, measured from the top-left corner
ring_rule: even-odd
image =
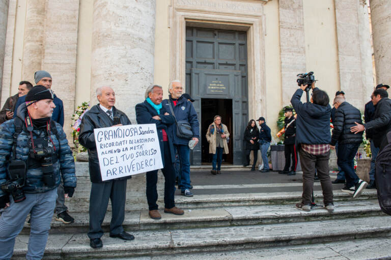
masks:
[[[251,168],[251,171],[255,171],[255,165],[257,164],[258,160],[258,150],[259,150],[259,130],[257,127],[257,123],[254,119],[251,119],[248,122],[248,125],[246,129],[244,130],[244,142],[245,142],[245,155],[246,155],[246,163],[244,164],[244,167],[248,166],[250,164],[250,153],[253,151],[254,153],[254,159],[253,159],[253,167]]]

